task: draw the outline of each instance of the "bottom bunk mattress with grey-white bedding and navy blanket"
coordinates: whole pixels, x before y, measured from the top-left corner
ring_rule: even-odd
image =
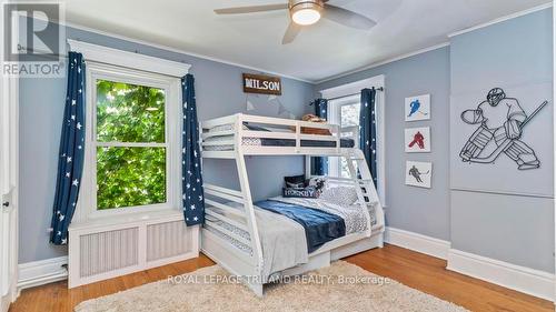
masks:
[[[229,207],[242,209],[238,203]],[[219,210],[218,208],[210,208]],[[225,213],[219,210],[220,213]],[[276,272],[307,263],[309,253],[328,241],[368,230],[367,213],[359,204],[339,207],[318,199],[272,198],[255,203],[255,217],[262,248],[265,282]],[[369,208],[370,223],[376,223],[374,207]],[[231,217],[231,215],[227,215]],[[247,231],[232,224],[206,215],[227,231],[234,232],[246,241],[251,241]],[[299,219],[299,220],[296,220]],[[302,224],[302,223],[307,224]],[[206,230],[229,241],[238,250],[252,254],[252,249],[208,224]]]

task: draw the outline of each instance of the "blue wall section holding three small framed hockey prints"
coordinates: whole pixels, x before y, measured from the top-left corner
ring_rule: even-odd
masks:
[[[449,240],[448,108],[449,48],[320,83],[320,91],[369,77],[385,76],[386,89],[386,222],[389,227]],[[430,93],[431,120],[405,122],[406,97]],[[431,153],[408,154],[404,129],[430,127]],[[406,161],[431,161],[433,188],[405,185]]]

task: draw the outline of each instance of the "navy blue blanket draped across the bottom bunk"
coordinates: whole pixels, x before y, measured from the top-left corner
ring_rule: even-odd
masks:
[[[272,200],[259,201],[255,205],[285,215],[301,224],[305,228],[309,253],[331,240],[346,235],[346,223],[336,214]]]

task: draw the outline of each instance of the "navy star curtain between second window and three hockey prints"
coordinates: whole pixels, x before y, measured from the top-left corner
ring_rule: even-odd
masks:
[[[375,97],[373,89],[361,90],[361,110],[359,114],[359,147],[361,148],[367,164],[369,165],[373,182],[377,187],[377,124],[375,118]]]

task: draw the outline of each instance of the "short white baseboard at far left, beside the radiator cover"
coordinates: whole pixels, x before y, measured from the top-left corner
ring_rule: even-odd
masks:
[[[51,258],[19,264],[18,290],[68,279],[68,256]]]

